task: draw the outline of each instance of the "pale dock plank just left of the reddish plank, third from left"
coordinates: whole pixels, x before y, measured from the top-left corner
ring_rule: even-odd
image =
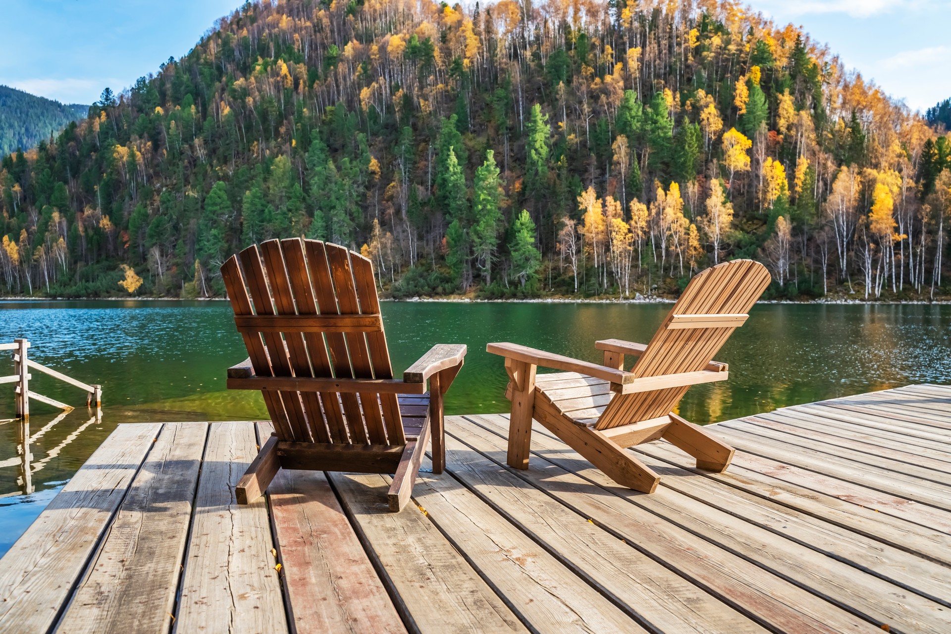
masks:
[[[264,499],[234,490],[258,453],[254,423],[213,423],[184,558],[175,631],[287,631]]]

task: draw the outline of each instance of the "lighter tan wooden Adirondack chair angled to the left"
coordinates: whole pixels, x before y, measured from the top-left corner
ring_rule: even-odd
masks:
[[[552,355],[514,343],[490,343],[505,357],[512,401],[508,463],[528,469],[532,419],[564,440],[620,485],[653,492],[660,477],[625,448],[665,438],[697,459],[697,467],[725,471],[733,449],[671,410],[697,383],[728,378],[713,361],[720,347],[769,285],[765,266],[738,259],[702,271],[684,290],[647,346],[597,341],[604,364]],[[624,370],[624,356],[639,357]],[[536,375],[537,366],[566,371]]]

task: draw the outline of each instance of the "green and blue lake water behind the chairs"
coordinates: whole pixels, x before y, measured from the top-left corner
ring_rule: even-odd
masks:
[[[446,412],[507,410],[501,357],[512,341],[598,361],[596,339],[646,343],[670,304],[384,302],[394,369],[434,343],[469,355]],[[13,386],[0,385],[0,555],[119,423],[266,416],[260,394],[229,393],[224,371],[246,353],[223,301],[4,301],[0,341],[26,336],[30,358],[103,385],[103,416],[30,403],[33,490],[24,491]],[[679,413],[705,424],[910,383],[951,383],[951,306],[761,304],[716,360],[730,378],[691,388]],[[0,375],[12,374],[7,353]],[[30,389],[73,405],[86,394],[32,372]]]

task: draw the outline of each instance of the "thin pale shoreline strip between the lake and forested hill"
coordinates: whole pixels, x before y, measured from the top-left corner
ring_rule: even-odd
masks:
[[[475,298],[379,298],[380,301],[387,302],[407,302],[407,303],[455,303],[455,304],[672,304],[676,301],[674,298],[655,298],[639,296],[637,298],[522,298],[522,299],[475,299]],[[0,297],[0,302],[43,302],[43,301],[228,301],[227,298],[18,298],[18,297]],[[935,299],[928,301],[924,299],[908,299],[904,301],[894,301],[890,299],[760,299],[758,304],[793,304],[793,305],[881,305],[881,306],[902,306],[902,305],[951,305],[951,299]]]

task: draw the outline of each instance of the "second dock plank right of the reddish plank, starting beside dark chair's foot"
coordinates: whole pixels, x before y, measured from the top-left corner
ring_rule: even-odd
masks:
[[[534,631],[647,631],[454,478],[420,476],[416,500]]]

